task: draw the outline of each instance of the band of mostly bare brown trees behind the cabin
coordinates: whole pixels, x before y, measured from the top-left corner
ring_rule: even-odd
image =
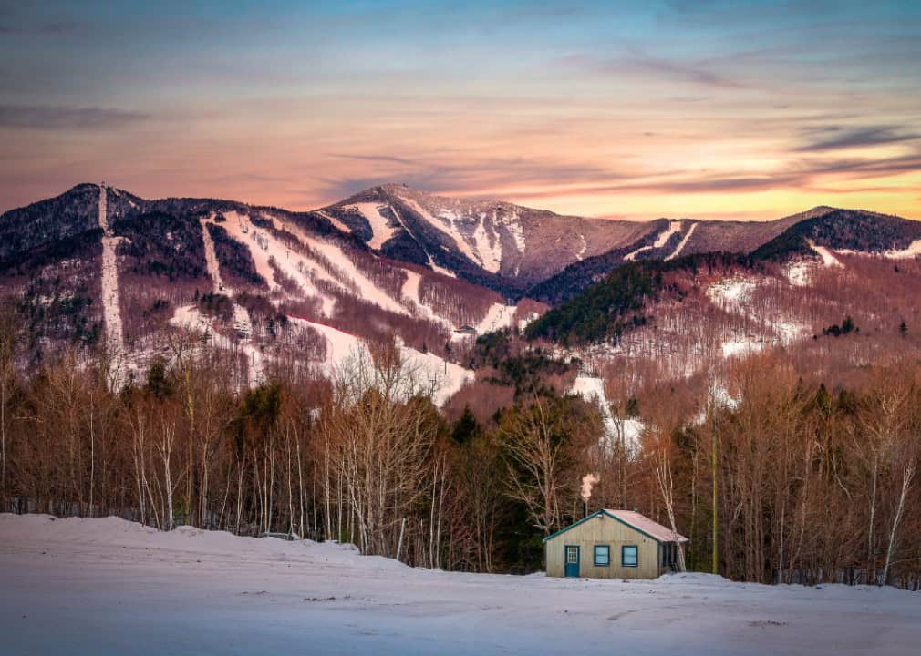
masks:
[[[792,356],[763,353],[735,363],[725,388],[659,381],[615,402],[611,432],[599,407],[558,391],[565,363],[503,340],[477,356],[492,382],[439,411],[388,348],[332,382],[279,370],[254,389],[235,389],[226,352],[180,341],[118,390],[103,351],[24,375],[13,316],[0,329],[6,511],[339,539],[414,566],[526,573],[542,568],[542,537],[583,516],[592,473],[589,511],[673,526],[691,538],[691,570],[921,581],[916,357],[822,386]],[[628,419],[646,427],[636,445]]]

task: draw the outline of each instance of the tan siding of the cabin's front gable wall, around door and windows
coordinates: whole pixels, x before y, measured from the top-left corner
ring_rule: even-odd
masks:
[[[595,566],[595,545],[610,545],[611,565]],[[577,546],[579,576],[592,579],[655,579],[659,577],[659,543],[632,526],[600,514],[544,543],[547,576],[565,575],[565,547]],[[621,547],[637,547],[637,567],[621,566]]]

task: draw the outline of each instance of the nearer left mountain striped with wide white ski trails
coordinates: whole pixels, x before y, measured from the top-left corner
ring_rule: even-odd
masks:
[[[137,373],[165,333],[192,329],[239,351],[250,383],[286,363],[332,373],[395,336],[449,393],[470,375],[447,362],[452,341],[517,320],[499,294],[387,258],[323,214],[79,185],[3,215],[0,288],[37,350],[104,343]]]

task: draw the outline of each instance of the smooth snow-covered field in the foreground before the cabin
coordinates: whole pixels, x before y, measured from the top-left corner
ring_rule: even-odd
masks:
[[[333,544],[0,514],[0,641],[6,656],[917,654],[921,596],[413,570]]]

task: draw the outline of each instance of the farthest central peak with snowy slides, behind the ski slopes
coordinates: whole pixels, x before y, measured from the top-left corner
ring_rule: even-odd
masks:
[[[503,201],[446,198],[402,185],[363,191],[316,214],[393,259],[510,296],[572,262],[633,244],[654,228]]]

